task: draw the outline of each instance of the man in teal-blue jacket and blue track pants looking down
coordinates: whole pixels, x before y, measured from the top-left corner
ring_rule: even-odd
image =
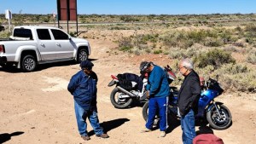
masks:
[[[140,66],[141,72],[148,72],[147,95],[148,102],[148,120],[146,129],[142,132],[152,130],[156,112],[159,111],[160,116],[160,136],[166,136],[167,124],[167,107],[168,98],[170,95],[170,88],[166,77],[166,72],[160,67],[153,64],[153,62],[143,61]]]

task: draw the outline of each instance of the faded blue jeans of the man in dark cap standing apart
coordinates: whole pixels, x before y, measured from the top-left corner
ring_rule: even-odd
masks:
[[[96,135],[103,134],[103,129],[99,124],[99,119],[98,119],[96,110],[85,111],[84,108],[80,107],[76,101],[74,101],[74,108],[75,108],[75,114],[76,114],[76,118],[77,118],[80,135],[86,136],[88,133],[86,118],[89,119],[90,125],[92,126]]]

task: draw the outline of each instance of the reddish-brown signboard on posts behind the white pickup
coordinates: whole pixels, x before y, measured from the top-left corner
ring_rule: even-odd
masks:
[[[77,20],[77,0],[57,0],[58,20]]]

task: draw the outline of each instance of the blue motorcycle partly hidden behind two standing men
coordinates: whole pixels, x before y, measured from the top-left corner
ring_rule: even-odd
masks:
[[[171,87],[172,95],[170,95],[169,112],[177,119],[177,93],[175,87]],[[207,123],[213,129],[224,130],[230,127],[232,116],[228,107],[222,102],[214,101],[214,98],[223,93],[224,89],[220,87],[217,80],[209,78],[207,83],[202,85],[201,97],[198,102],[198,113],[195,115],[195,121],[207,120]],[[143,106],[143,118],[148,119],[148,101]],[[158,116],[156,116],[156,121]]]

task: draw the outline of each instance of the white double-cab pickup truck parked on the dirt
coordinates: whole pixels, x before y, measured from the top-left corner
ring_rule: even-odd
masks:
[[[90,44],[56,27],[15,26],[8,40],[0,40],[0,66],[32,72],[38,64],[87,60]]]

